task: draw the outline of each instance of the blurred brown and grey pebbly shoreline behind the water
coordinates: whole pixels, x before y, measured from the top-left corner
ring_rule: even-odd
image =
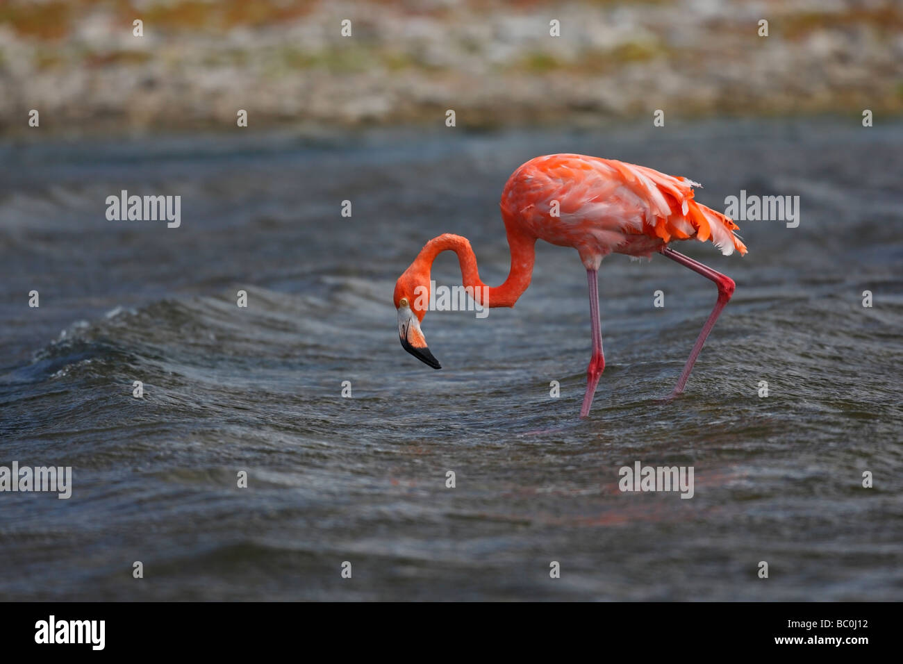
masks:
[[[239,109],[249,129],[314,134],[442,127],[448,109],[473,129],[880,118],[903,114],[901,61],[889,0],[16,0],[0,5],[0,136],[227,131]]]

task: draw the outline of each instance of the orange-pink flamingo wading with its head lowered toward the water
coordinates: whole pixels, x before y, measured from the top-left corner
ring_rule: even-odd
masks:
[[[536,240],[573,247],[586,267],[590,290],[592,357],[580,410],[580,416],[586,417],[605,369],[599,317],[601,260],[611,253],[651,258],[657,252],[718,286],[712,313],[668,398],[676,397],[684,391],[694,362],[735,285],[729,276],[677,253],[670,244],[695,238],[711,240],[725,256],[735,249],[741,256],[747,251],[733,232],[739,228],[733,220],[694,201],[693,188],[699,186],[698,182],[646,166],[584,154],[547,154],[531,159],[512,173],[499,203],[511,250],[511,267],[505,282],[489,287],[480,280],[477,257],[467,238],[445,233],[431,239],[396,282],[393,300],[402,347],[433,369],[442,369],[421,330],[429,307],[430,270],[442,251],[458,255],[463,285],[475,302],[481,306],[513,307],[530,285]]]

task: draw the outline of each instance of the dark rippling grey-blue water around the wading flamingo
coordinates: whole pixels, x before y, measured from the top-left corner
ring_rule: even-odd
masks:
[[[572,249],[538,246],[513,310],[428,313],[441,371],[398,342],[418,249],[466,235],[501,283],[499,193],[552,152],[691,177],[715,208],[801,198],[796,229],[740,222],[746,257],[680,245],[738,286],[674,402],[715,289],[662,257],[603,262],[586,421]],[[903,126],[197,136],[6,145],[0,164],[0,464],[74,483],[0,494],[4,599],[903,597]],[[107,221],[122,189],[181,194],[182,227]],[[452,254],[433,277],[460,283]],[[694,498],[622,493],[636,461],[694,466]]]

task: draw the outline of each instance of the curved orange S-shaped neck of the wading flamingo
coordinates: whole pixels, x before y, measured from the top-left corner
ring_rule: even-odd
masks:
[[[460,235],[445,233],[438,238],[431,239],[420,250],[415,262],[424,265],[425,271],[429,275],[433,260],[443,251],[453,251],[458,255],[461,263],[461,280],[465,287],[473,289],[471,293],[474,300],[489,307],[514,306],[517,298],[523,295],[527,286],[530,285],[530,278],[533,276],[536,240],[527,238],[511,229],[507,230],[507,240],[508,248],[511,250],[511,268],[505,283],[495,287],[487,286],[479,278],[477,257],[470,248],[470,241]],[[484,294],[488,295],[488,302],[484,301]]]

